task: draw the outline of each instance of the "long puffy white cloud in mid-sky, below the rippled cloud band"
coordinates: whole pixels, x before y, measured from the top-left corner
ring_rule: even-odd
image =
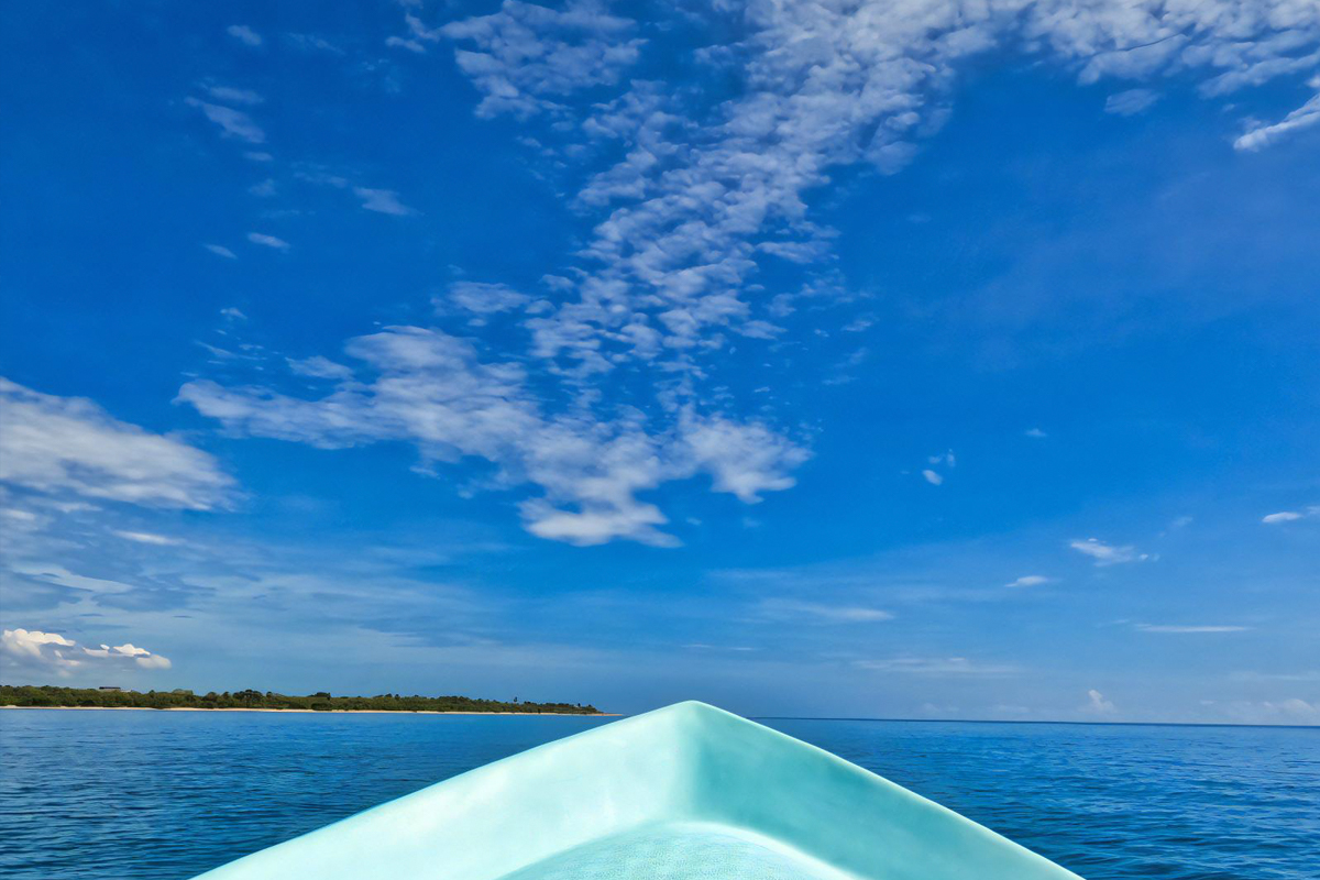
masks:
[[[239,434],[325,449],[412,442],[422,470],[484,458],[498,468],[495,483],[541,489],[520,504],[529,532],[578,545],[614,538],[673,545],[659,529],[667,517],[639,492],[709,474],[715,491],[750,503],[791,487],[788,471],[807,458],[762,424],[693,406],[661,430],[648,430],[634,410],[612,420],[579,410],[548,416],[521,365],[482,361],[470,342],[438,330],[387,327],[345,350],[376,377],[343,377],[317,400],[205,380],[183,385],[178,398]]]

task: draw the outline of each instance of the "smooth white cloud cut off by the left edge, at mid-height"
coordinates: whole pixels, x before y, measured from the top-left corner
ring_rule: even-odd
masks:
[[[205,511],[234,480],[209,454],[121,422],[88,400],[0,379],[0,482],[48,493]]]

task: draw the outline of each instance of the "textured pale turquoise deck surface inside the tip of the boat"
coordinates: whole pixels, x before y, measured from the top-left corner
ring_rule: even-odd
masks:
[[[849,880],[849,875],[742,829],[667,822],[591,840],[502,880]]]

